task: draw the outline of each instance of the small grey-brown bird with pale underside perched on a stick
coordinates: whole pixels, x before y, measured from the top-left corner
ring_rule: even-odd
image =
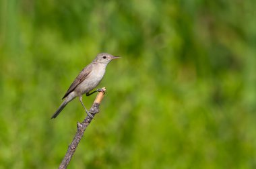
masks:
[[[83,68],[83,70],[78,74],[75,80],[73,80],[69,89],[67,89],[67,92],[62,98],[64,99],[63,103],[61,103],[57,111],[55,111],[51,119],[55,119],[59,115],[59,113],[61,113],[67,103],[75,99],[75,97],[79,97],[79,101],[82,103],[84,110],[89,115],[89,117],[93,118],[91,113],[84,106],[84,103],[82,101],[82,95],[86,93],[86,96],[90,96],[97,91],[101,91],[101,89],[97,89],[96,91],[90,93],[90,91],[96,88],[102,80],[106,72],[106,66],[108,65],[108,63],[117,58],[121,57],[113,56],[107,53],[98,54],[90,64]]]

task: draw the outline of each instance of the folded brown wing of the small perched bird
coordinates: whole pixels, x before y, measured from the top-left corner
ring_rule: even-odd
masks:
[[[71,93],[75,87],[78,86],[78,84],[80,84],[82,81],[84,81],[84,79],[86,79],[88,77],[88,74],[90,74],[90,72],[92,72],[92,64],[89,64],[88,66],[86,66],[79,74],[78,76],[75,78],[75,80],[72,82],[72,84],[70,85],[69,89],[67,90],[66,94],[64,95],[64,97],[62,99],[64,99],[65,97],[67,97],[67,95],[69,95],[69,93]]]

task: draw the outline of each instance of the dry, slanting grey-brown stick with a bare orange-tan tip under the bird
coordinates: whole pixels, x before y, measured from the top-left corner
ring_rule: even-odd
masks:
[[[90,112],[92,116],[96,115],[96,113],[99,112],[100,102],[102,101],[104,97],[104,93],[106,93],[106,89],[102,87],[102,91],[100,91],[90,109]],[[73,138],[72,143],[69,145],[69,148],[67,149],[67,153],[65,154],[65,157],[63,158],[61,164],[59,165],[59,168],[67,168],[69,165],[69,162],[75,153],[75,150],[82,139],[84,135],[84,131],[86,130],[86,127],[91,123],[92,119],[87,115],[86,118],[82,123],[77,122],[77,132],[75,133],[75,137]]]

